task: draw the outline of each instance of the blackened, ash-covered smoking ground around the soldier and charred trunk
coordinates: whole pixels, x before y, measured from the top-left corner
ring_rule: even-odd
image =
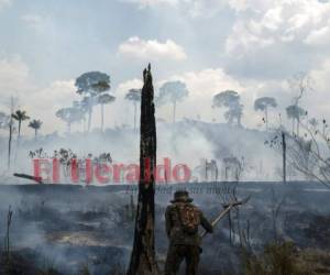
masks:
[[[239,211],[231,211],[231,230],[226,217],[215,234],[204,239],[202,274],[239,273],[242,245],[257,251],[274,239],[294,242],[299,249],[329,252],[330,189],[317,183],[160,185],[156,250],[161,266],[168,244],[164,212],[174,191],[189,190],[195,204],[212,220],[223,209],[221,204],[232,198],[234,186],[238,198],[251,195],[251,199]],[[26,263],[54,266],[59,274],[78,274],[84,266],[91,274],[111,274],[129,262],[135,205],[136,186],[2,185],[1,244],[11,206],[10,248],[28,258]]]

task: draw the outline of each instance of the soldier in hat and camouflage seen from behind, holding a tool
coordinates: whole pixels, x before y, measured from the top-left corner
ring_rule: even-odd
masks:
[[[193,199],[187,191],[176,191],[170,202],[165,212],[166,233],[169,239],[165,275],[175,275],[183,260],[186,261],[186,275],[196,275],[201,253],[198,227],[202,226],[209,233],[213,232],[213,228],[191,204]]]

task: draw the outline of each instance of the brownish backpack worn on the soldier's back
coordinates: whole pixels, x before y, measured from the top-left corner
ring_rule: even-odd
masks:
[[[196,234],[200,224],[200,213],[196,207],[187,204],[176,206],[182,229],[187,234]]]

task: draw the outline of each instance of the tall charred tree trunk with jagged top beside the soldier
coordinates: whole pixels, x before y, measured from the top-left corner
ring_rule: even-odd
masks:
[[[140,182],[134,243],[128,275],[157,275],[155,256],[156,125],[151,67],[143,72],[140,129]]]

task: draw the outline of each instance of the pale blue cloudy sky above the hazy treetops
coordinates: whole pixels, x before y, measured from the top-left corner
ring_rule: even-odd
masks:
[[[278,102],[270,113],[276,124],[298,95],[288,81],[298,74],[311,84],[301,107],[330,119],[330,2],[0,0],[0,111],[15,96],[18,108],[43,121],[44,134],[65,131],[55,112],[80,99],[75,79],[91,70],[110,75],[117,97],[106,108],[106,125],[132,124],[124,95],[141,88],[147,63],[156,94],[168,80],[187,85],[178,119],[224,122],[223,111],[211,108],[212,96],[233,89],[244,105],[245,127],[261,127],[253,102],[264,96]],[[156,116],[170,121],[170,107]],[[23,131],[33,133],[26,125]]]

